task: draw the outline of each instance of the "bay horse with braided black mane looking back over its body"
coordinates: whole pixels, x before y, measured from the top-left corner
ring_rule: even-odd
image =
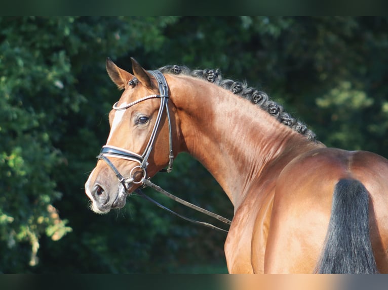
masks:
[[[387,273],[388,161],[327,148],[260,90],[218,70],[165,66],[133,74],[85,190],[92,210],[126,197],[187,152],[234,206],[224,250],[230,273]]]

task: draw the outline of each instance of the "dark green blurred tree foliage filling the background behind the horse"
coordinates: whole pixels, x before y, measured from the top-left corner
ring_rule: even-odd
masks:
[[[136,195],[105,216],[88,209],[83,186],[120,96],[106,57],[128,70],[129,57],[149,69],[220,68],[267,91],[328,146],[388,156],[387,24],[380,17],[0,18],[0,272],[225,269],[223,233]],[[182,154],[174,166],[154,182],[232,217],[197,161]]]

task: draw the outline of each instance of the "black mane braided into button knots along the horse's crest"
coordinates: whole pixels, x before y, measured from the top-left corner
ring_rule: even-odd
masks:
[[[283,106],[269,99],[269,96],[261,90],[248,87],[245,82],[223,79],[219,69],[190,70],[186,66],[168,65],[158,69],[162,73],[183,74],[212,82],[234,94],[241,96],[251,103],[260,106],[269,115],[276,118],[280,123],[292,128],[299,134],[304,135],[307,140],[317,141],[317,135],[307,128],[301,121],[293,118],[289,113],[284,112]]]

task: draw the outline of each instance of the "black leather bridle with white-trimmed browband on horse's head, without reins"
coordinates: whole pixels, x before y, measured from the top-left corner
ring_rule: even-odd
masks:
[[[128,109],[128,108],[130,108],[130,107],[132,107],[140,102],[146,101],[146,100],[156,99],[156,98],[161,100],[158,115],[157,115],[157,118],[155,121],[155,125],[153,126],[151,136],[149,137],[147,146],[144,149],[143,154],[139,155],[139,154],[134,153],[134,152],[129,151],[129,150],[125,150],[125,149],[114,147],[114,146],[105,145],[102,147],[100,154],[97,156],[98,159],[104,160],[109,165],[109,167],[116,174],[119,182],[121,184],[123,184],[126,191],[128,190],[127,184],[129,184],[129,183],[134,183],[134,184],[143,183],[142,180],[140,180],[140,181],[134,180],[134,178],[132,176],[134,169],[136,169],[136,168],[141,169],[143,172],[143,178],[146,178],[146,175],[147,175],[146,169],[147,169],[147,165],[148,165],[147,161],[148,161],[149,155],[152,152],[153,145],[154,145],[155,140],[156,140],[156,135],[158,133],[159,126],[161,123],[162,115],[163,115],[163,112],[165,110],[166,110],[167,120],[168,120],[169,142],[170,142],[170,154],[169,154],[169,164],[168,164],[167,172],[171,172],[171,170],[173,168],[174,155],[173,155],[173,150],[172,150],[172,128],[171,128],[170,112],[168,110],[169,90],[168,90],[168,86],[167,86],[167,81],[166,81],[166,78],[164,77],[164,75],[160,71],[155,70],[155,71],[148,71],[148,72],[151,73],[158,81],[159,94],[151,94],[151,95],[144,96],[144,98],[141,98],[137,101],[134,101],[132,103],[129,103],[129,104],[121,106],[121,107],[118,106],[119,102],[117,102],[113,105],[113,110],[119,111],[119,110],[126,110],[126,109]],[[139,163],[139,165],[132,168],[129,178],[125,178],[119,172],[119,170],[113,165],[113,163],[108,159],[108,157],[135,161],[135,162]]]

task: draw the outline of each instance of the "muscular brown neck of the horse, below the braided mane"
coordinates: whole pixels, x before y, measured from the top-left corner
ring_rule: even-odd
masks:
[[[201,80],[171,85],[171,100],[177,108],[181,150],[209,170],[235,207],[266,165],[314,146],[256,105]]]

